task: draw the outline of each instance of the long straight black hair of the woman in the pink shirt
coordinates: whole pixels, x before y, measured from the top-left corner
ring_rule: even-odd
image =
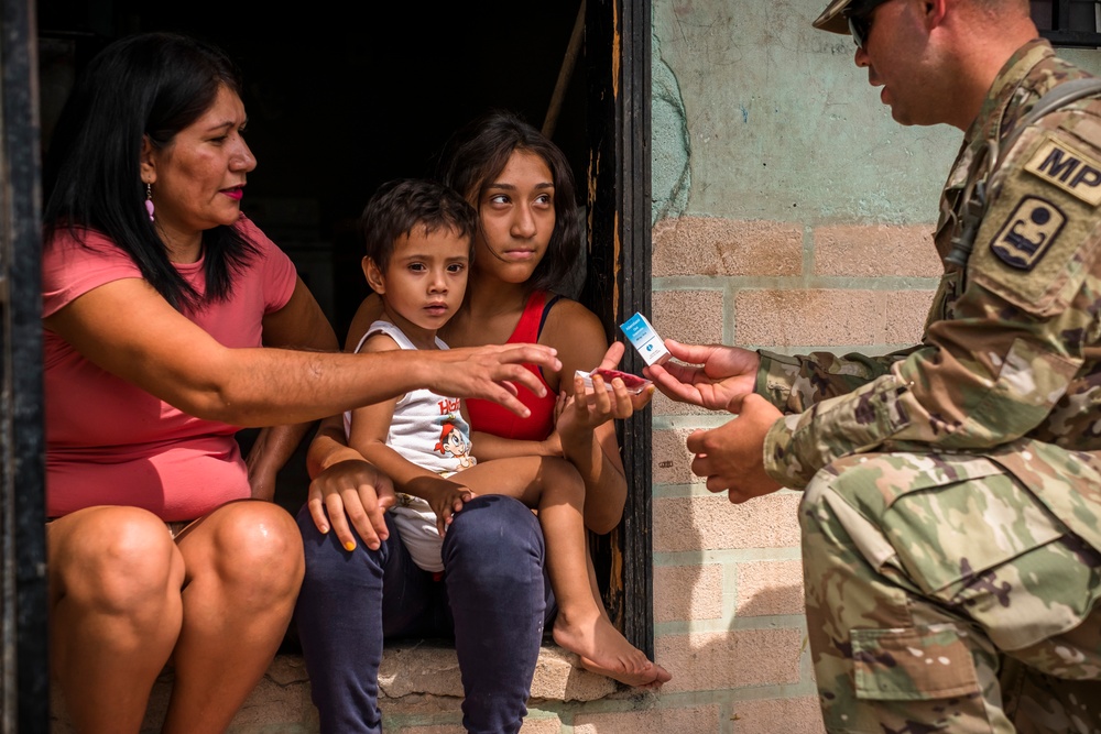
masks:
[[[179,310],[222,300],[232,274],[258,252],[237,228],[203,232],[206,293],[179,275],[145,211],[143,138],[170,145],[214,105],[221,87],[241,95],[240,72],[221,50],[175,33],[141,33],[99,52],[58,118],[43,165],[43,220],[58,230],[95,230],[126,251],[142,276]]]

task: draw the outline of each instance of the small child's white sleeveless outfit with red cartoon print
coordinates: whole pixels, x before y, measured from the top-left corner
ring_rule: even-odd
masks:
[[[374,321],[359,344],[358,352],[367,338],[379,333],[388,335],[402,349],[416,349],[408,337],[390,321]],[[436,339],[439,349],[447,344]],[[462,418],[457,397],[447,397],[430,390],[414,390],[406,393],[394,406],[390,421],[386,445],[418,467],[434,471],[442,476],[472,467],[475,458],[470,453],[470,426]],[[345,413],[345,435],[351,429],[351,413]],[[444,539],[436,530],[436,513],[432,506],[413,495],[397,493],[397,504],[391,508],[402,541],[408,548],[413,561],[425,571],[443,571],[440,548]]]

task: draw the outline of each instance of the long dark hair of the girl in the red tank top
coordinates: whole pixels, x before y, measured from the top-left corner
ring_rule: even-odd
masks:
[[[478,207],[486,187],[509,163],[513,151],[535,153],[550,169],[555,226],[546,254],[528,285],[559,287],[577,266],[581,251],[581,216],[577,211],[574,174],[563,152],[515,112],[494,109],[460,128],[448,141],[437,176]]]

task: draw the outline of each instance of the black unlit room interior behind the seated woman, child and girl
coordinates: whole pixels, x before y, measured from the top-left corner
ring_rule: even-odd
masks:
[[[244,75],[258,160],[242,209],[287,251],[342,340],[368,293],[355,223],[370,195],[430,175],[451,131],[488,108],[546,129],[580,4],[41,0],[43,144],[73,76],[113,39],[181,31],[221,46]],[[584,74],[573,66],[552,113],[579,191]]]

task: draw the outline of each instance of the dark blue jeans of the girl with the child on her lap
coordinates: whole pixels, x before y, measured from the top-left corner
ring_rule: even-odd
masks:
[[[421,570],[386,518],[378,550],[345,550],[298,512],[306,578],[295,610],[323,733],[382,731],[379,665],[383,639],[451,637],[465,699],[462,724],[478,734],[514,734],[527,699],[543,631],[555,612],[544,570],[543,533],[517,500],[479,496],[444,539],[444,579]]]

